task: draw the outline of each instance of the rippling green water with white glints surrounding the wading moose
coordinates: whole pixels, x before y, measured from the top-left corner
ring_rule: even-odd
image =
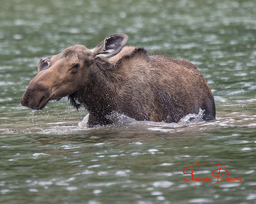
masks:
[[[253,0],[9,0],[0,8],[0,202],[256,202],[256,3]],[[67,99],[42,111],[20,105],[41,57],[109,34],[151,54],[188,59],[215,97],[214,122],[136,122],[84,127]],[[198,116],[200,117],[200,116]],[[84,121],[83,121],[84,119]],[[82,122],[83,121],[83,122]],[[194,167],[217,163],[232,178]],[[186,170],[191,172],[191,168]],[[224,174],[224,172],[223,172]]]

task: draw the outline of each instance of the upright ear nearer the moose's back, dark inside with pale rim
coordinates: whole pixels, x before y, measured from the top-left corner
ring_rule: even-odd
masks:
[[[128,35],[118,33],[106,37],[99,45],[91,50],[95,58],[113,57],[118,54],[128,40]]]

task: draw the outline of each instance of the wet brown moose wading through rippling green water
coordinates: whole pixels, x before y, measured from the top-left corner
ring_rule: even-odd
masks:
[[[40,110],[68,96],[75,108],[88,110],[88,127],[113,123],[108,117],[113,112],[171,123],[201,108],[203,120],[215,119],[211,89],[194,64],[149,55],[144,48],[125,46],[127,40],[126,34],[112,34],[93,49],[73,45],[42,58],[21,105]]]

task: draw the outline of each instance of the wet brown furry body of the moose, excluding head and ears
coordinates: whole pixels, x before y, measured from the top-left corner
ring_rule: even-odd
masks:
[[[93,65],[90,86],[76,94],[90,112],[89,123],[110,123],[112,111],[136,120],[178,122],[189,113],[214,106],[206,80],[195,65],[186,60],[149,56],[143,48],[124,47],[107,62]],[[104,107],[104,108],[103,108]],[[210,109],[211,109],[210,108]]]

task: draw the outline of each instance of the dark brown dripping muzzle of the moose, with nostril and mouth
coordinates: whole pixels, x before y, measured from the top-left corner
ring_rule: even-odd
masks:
[[[45,107],[50,99],[50,90],[47,85],[42,82],[37,82],[35,79],[29,82],[29,86],[25,93],[20,98],[20,103],[23,106],[33,110],[40,110]]]

